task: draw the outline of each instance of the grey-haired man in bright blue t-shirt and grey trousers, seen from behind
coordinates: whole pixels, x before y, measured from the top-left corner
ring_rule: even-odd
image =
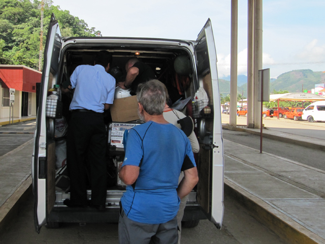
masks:
[[[119,243],[177,243],[177,211],[199,178],[186,135],[164,119],[165,90],[157,80],[138,87],[145,124],[127,136],[119,176],[127,185],[121,198]],[[178,186],[178,177],[184,178]]]

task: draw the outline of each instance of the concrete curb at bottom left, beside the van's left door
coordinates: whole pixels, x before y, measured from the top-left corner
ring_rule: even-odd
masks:
[[[20,206],[25,203],[28,196],[32,193],[31,175],[22,182],[18,189],[0,207],[0,236],[6,231],[9,224],[15,220],[20,210]]]

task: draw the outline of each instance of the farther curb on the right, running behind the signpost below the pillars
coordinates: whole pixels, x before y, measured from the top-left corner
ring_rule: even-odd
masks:
[[[222,129],[227,129],[230,131],[242,131],[242,132],[247,132],[247,133],[250,133],[253,135],[258,135],[258,136],[261,135],[261,133],[257,132],[257,131],[252,131],[252,130],[248,130],[245,128],[234,127],[234,126],[230,126],[230,125],[222,125]],[[325,150],[325,145],[320,145],[320,144],[316,144],[313,142],[295,140],[295,139],[291,139],[291,138],[287,138],[287,137],[271,135],[268,133],[263,133],[263,137],[273,139],[273,140],[283,141],[283,142],[287,142],[287,143],[293,143],[293,144],[297,144],[297,145],[301,145],[301,146],[306,146],[306,147],[310,147],[313,149]]]

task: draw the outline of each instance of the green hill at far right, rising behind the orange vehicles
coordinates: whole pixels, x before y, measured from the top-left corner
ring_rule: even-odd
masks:
[[[270,90],[287,90],[289,93],[301,93],[304,89],[311,90],[315,84],[325,83],[325,73],[312,70],[293,70],[283,73],[270,83]]]

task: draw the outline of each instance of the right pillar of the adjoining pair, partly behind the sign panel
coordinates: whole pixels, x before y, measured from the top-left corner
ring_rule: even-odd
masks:
[[[254,128],[261,128],[261,102],[258,102],[258,70],[263,69],[263,0],[255,0],[254,8]]]

